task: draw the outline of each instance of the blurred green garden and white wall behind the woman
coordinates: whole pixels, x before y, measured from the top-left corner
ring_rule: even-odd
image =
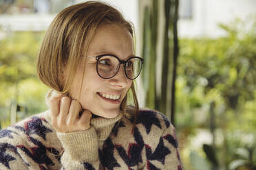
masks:
[[[54,16],[80,2],[0,1],[0,129],[47,109],[36,56]],[[134,23],[140,106],[171,119],[184,168],[256,169],[256,1],[106,2]]]

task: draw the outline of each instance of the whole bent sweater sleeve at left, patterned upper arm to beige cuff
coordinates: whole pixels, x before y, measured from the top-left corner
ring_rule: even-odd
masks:
[[[57,168],[48,154],[52,152],[53,156],[58,157],[59,152],[53,147],[46,147],[46,141],[36,138],[36,135],[28,134],[28,131],[18,125],[0,131],[1,170]],[[99,169],[98,137],[94,127],[83,132],[57,133],[57,136],[64,149],[61,167],[58,165],[58,169]]]

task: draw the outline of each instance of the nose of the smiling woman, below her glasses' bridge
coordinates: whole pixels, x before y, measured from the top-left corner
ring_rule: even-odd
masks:
[[[122,64],[120,65],[120,69],[118,70],[118,73],[116,73],[116,75],[110,79],[112,86],[116,86],[120,88],[125,88],[128,85],[129,81],[131,80],[129,80],[126,77],[125,69],[124,69],[124,66],[122,66]]]

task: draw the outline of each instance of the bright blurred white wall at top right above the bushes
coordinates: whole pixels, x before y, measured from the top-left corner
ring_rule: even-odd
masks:
[[[217,27],[218,23],[230,23],[236,18],[248,19],[256,16],[255,0],[192,0],[192,19],[180,19],[180,37],[224,36],[225,32]]]

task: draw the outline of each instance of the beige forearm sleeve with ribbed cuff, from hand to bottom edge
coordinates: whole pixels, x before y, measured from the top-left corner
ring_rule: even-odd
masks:
[[[61,165],[65,170],[99,169],[98,137],[94,127],[83,132],[57,133],[57,136],[64,148]]]

